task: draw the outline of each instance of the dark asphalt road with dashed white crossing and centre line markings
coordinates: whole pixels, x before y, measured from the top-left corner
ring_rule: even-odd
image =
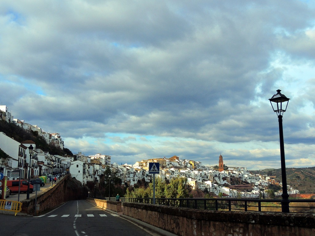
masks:
[[[159,236],[85,200],[69,201],[42,216],[0,214],[5,236]]]

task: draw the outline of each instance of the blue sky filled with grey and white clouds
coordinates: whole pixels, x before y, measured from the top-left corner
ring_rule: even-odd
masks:
[[[0,2],[0,103],[112,163],[315,166],[313,1]]]

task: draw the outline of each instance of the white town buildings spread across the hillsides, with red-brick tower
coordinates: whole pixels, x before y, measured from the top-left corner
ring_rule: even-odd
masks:
[[[25,123],[22,120],[14,119],[8,112],[8,107],[0,106],[0,120],[13,123],[28,132],[37,131],[40,137],[43,137],[47,143],[54,143],[61,149],[64,148],[64,142],[59,133],[44,132],[38,126]],[[32,147],[32,158],[30,160],[29,147]],[[8,137],[4,132],[0,132],[0,149],[8,155],[7,158],[1,158],[0,172],[8,176],[11,171],[20,171],[21,177],[27,179],[28,173],[31,178],[44,176],[53,173],[70,173],[71,177],[76,178],[83,185],[88,183],[100,183],[106,168],[121,178],[122,183],[128,186],[135,185],[138,181],[152,181],[152,174],[149,174],[149,163],[159,163],[160,171],[156,177],[162,180],[172,180],[177,177],[187,178],[187,187],[192,190],[202,190],[203,192],[222,195],[230,198],[260,198],[267,196],[265,192],[268,184],[279,184],[268,176],[253,175],[246,167],[229,167],[224,170],[223,157],[219,156],[218,169],[204,166],[199,161],[182,160],[174,155],[170,158],[155,158],[137,161],[133,165],[118,165],[111,163],[110,155],[85,156],[79,152],[74,156],[70,155],[50,155],[37,147],[31,140],[25,140],[22,143]],[[9,178],[12,180],[14,178]],[[238,183],[238,184],[235,184]],[[94,184],[93,184],[94,185]],[[282,192],[276,192],[275,195],[281,195]],[[299,194],[288,186],[288,194]]]

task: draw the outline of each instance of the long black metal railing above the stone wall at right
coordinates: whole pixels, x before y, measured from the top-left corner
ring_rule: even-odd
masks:
[[[315,213],[315,199],[289,200],[290,212]],[[153,198],[124,198],[123,201],[153,204]],[[155,203],[199,210],[281,212],[281,199],[156,198]]]

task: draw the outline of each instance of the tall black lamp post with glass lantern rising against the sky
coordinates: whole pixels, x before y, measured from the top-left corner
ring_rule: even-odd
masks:
[[[285,170],[284,138],[283,138],[283,126],[282,126],[282,115],[287,110],[290,98],[287,98],[280,92],[281,90],[278,89],[277,94],[273,95],[272,98],[269,99],[269,101],[270,101],[273,111],[277,113],[278,121],[279,121],[281,177],[282,177],[281,208],[282,208],[282,212],[290,212],[290,208],[289,208],[290,201],[289,201],[289,194],[288,194],[288,189],[287,189],[287,174]],[[274,103],[275,107],[273,107],[272,103]]]

